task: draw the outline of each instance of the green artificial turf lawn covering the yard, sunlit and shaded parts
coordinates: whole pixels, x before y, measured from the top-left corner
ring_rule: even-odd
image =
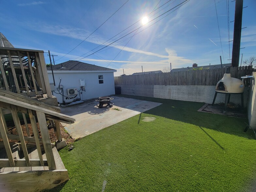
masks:
[[[251,191],[256,140],[247,119],[163,103],[59,151],[70,180],[53,191]],[[143,117],[155,117],[151,122]]]

